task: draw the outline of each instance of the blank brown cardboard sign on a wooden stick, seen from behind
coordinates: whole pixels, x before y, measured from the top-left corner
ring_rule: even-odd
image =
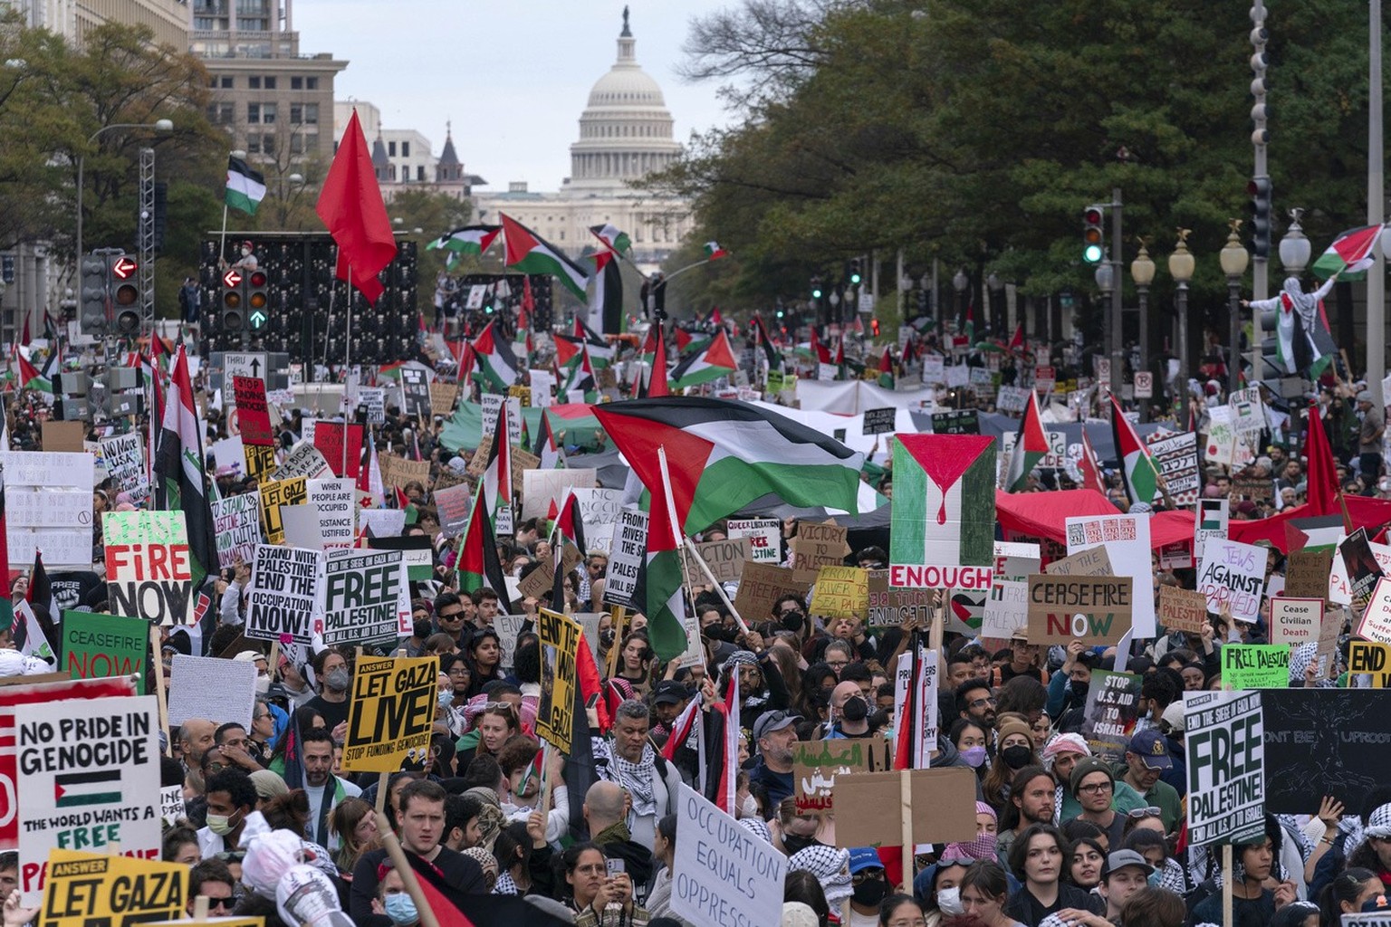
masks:
[[[975,773],[954,766],[861,773],[836,781],[837,846],[901,846],[903,823],[885,809],[904,805],[903,780],[908,777],[912,842],[939,844],[975,837]],[[765,921],[769,924],[776,920]]]

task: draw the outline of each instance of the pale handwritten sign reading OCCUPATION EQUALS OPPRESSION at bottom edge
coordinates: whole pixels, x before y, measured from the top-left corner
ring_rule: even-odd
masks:
[[[672,913],[693,924],[780,923],[787,858],[684,782],[676,814]]]

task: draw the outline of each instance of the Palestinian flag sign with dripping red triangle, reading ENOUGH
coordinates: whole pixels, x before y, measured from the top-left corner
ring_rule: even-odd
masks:
[[[995,454],[989,435],[894,435],[889,585],[990,588]]]

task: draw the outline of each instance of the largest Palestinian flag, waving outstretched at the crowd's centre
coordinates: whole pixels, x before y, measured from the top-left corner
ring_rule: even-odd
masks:
[[[765,495],[791,506],[858,510],[864,454],[778,413],[696,396],[593,409],[654,498],[661,488],[657,450],[666,449],[679,527],[686,534]]]

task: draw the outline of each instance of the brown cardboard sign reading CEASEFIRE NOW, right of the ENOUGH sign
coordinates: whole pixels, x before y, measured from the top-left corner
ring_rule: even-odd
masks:
[[[1129,577],[1031,575],[1029,643],[1120,643],[1131,630],[1132,585]]]

